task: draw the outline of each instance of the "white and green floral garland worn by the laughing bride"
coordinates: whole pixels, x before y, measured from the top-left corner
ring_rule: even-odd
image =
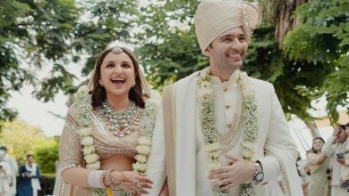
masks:
[[[138,145],[136,147],[138,154],[134,157],[137,162],[132,164],[133,171],[138,173],[145,173],[147,171],[147,160],[157,119],[157,98],[157,94],[152,94],[146,100],[145,109],[140,119],[140,137],[138,138]],[[78,134],[81,137],[81,144],[83,145],[83,159],[86,161],[86,168],[97,170],[100,168],[100,161],[93,143],[92,99],[87,86],[81,86],[79,88],[76,93],[76,100],[79,106],[79,125],[81,128],[78,130]]]

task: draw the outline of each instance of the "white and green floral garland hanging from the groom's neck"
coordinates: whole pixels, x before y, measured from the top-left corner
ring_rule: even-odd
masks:
[[[236,70],[239,71],[240,70]],[[245,72],[239,73],[238,84],[243,91],[243,159],[252,161],[258,135],[258,112],[255,92],[251,86],[251,78]],[[200,125],[204,135],[205,150],[209,156],[209,169],[219,167],[222,154],[216,123],[215,94],[210,83],[209,69],[200,71],[198,77],[198,94],[200,97]],[[215,196],[227,196],[228,191],[213,188]],[[252,183],[241,184],[241,196],[255,196],[256,190]]]

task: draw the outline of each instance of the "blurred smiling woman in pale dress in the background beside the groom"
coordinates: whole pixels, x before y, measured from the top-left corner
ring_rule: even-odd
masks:
[[[321,153],[324,143],[324,139],[315,137],[312,140],[311,151],[307,154],[308,166],[311,172],[308,187],[309,196],[328,196],[329,186],[326,172],[330,158]]]

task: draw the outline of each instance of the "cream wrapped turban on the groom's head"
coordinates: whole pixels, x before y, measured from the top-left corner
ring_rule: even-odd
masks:
[[[250,40],[251,30],[260,25],[261,12],[257,2],[203,0],[198,6],[194,20],[195,33],[204,53],[217,36],[235,27],[242,26],[247,40]]]

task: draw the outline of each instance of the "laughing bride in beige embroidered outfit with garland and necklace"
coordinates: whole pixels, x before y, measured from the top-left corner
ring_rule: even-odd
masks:
[[[68,110],[55,195],[140,195],[157,118],[157,99],[134,54],[123,47],[98,56],[88,86]]]

